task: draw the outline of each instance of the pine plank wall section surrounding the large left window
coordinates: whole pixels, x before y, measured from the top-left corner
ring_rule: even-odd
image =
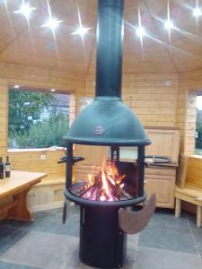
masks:
[[[58,159],[63,151],[22,151],[7,152],[7,115],[8,86],[20,84],[34,88],[51,89],[72,92],[70,96],[70,113],[75,115],[76,94],[85,89],[85,77],[65,72],[49,71],[22,65],[5,65],[0,63],[0,156],[5,160],[9,155],[12,169],[48,172],[50,178],[57,174],[65,175],[65,165],[58,165]],[[40,156],[45,155],[46,160]]]

